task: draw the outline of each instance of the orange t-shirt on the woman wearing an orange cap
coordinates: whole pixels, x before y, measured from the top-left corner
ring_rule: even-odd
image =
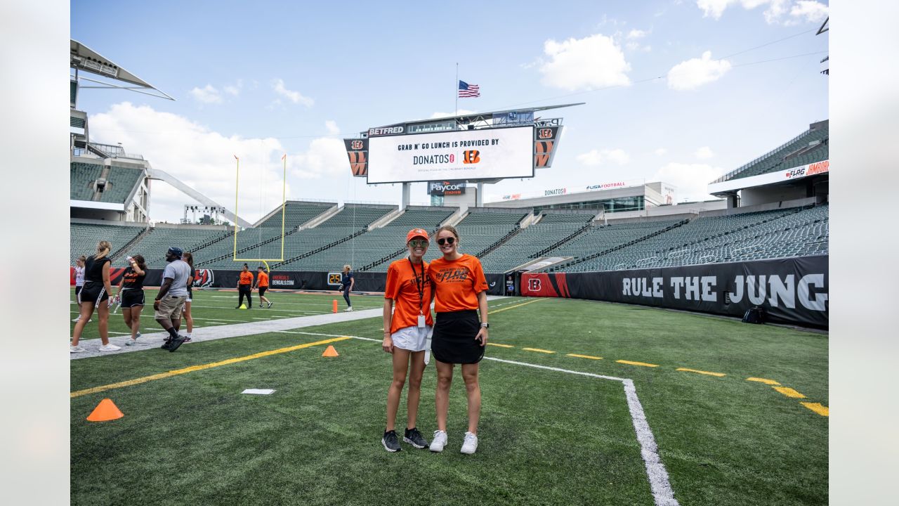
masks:
[[[422,262],[415,264],[415,272],[408,258],[396,260],[387,268],[387,288],[384,289],[384,298],[393,299],[393,319],[390,321],[390,333],[406,327],[418,325],[419,311],[424,313],[424,323],[433,325],[431,317],[431,283],[428,281],[428,264]],[[417,281],[416,281],[417,280]],[[421,283],[421,285],[416,285]],[[419,286],[423,290],[419,298]],[[418,303],[422,305],[419,307]]]

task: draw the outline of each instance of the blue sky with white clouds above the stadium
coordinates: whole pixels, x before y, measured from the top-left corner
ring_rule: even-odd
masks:
[[[71,7],[72,38],[177,99],[84,90],[92,139],[228,206],[240,155],[250,219],[280,202],[283,153],[289,197],[396,203],[400,185],[353,180],[341,139],[452,113],[457,62],[481,89],[460,110],[587,103],[559,111],[554,167],[485,185],[487,201],[659,179],[678,201],[703,198],[715,177],[828,117],[828,40],[814,35],[827,6],[811,0]],[[157,221],[191,203],[153,192]],[[424,184],[412,200],[427,202]]]

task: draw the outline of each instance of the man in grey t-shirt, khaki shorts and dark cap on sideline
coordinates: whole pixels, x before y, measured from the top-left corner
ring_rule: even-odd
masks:
[[[181,308],[187,299],[187,278],[191,276],[191,267],[181,259],[181,248],[173,246],[165,252],[168,265],[163,271],[163,285],[153,302],[156,321],[169,333],[162,348],[169,351],[178,349],[184,344],[184,336],[178,334],[181,328]]]

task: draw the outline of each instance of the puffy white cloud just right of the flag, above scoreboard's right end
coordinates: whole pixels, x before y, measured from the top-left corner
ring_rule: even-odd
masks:
[[[544,42],[549,61],[540,65],[542,83],[568,91],[627,86],[630,64],[619,44],[600,33],[583,39]]]

